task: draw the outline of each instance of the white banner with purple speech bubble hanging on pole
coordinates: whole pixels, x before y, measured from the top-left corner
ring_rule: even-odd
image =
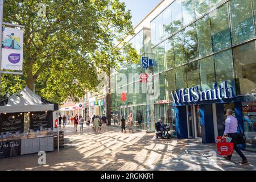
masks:
[[[22,71],[23,31],[17,28],[4,27],[2,45],[1,69]]]

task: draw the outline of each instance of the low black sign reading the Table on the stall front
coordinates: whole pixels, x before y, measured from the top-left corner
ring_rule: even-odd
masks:
[[[10,140],[7,142],[0,142],[0,158],[9,158],[20,155],[21,140]]]

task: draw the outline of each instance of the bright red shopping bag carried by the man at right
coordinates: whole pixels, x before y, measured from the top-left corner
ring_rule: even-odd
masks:
[[[226,142],[226,138],[217,137],[217,154],[218,155],[232,155],[234,143]]]

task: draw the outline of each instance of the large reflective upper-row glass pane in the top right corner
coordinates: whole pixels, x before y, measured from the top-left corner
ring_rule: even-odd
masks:
[[[254,27],[251,1],[232,0],[230,1],[229,7],[233,44],[238,44],[244,40],[253,38]]]

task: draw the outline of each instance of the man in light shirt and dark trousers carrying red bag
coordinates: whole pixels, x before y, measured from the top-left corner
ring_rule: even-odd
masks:
[[[247,159],[246,159],[245,155],[243,155],[240,148],[237,146],[237,136],[238,136],[238,133],[237,133],[237,126],[238,126],[237,118],[233,117],[232,114],[233,114],[232,109],[226,110],[227,118],[226,118],[226,121],[225,121],[224,136],[232,138],[231,142],[234,143],[234,150],[236,150],[237,154],[240,155],[240,157],[242,158],[242,161],[240,163],[245,164],[245,163],[247,163]],[[232,155],[225,156],[224,158],[228,159],[228,160],[231,160]]]

